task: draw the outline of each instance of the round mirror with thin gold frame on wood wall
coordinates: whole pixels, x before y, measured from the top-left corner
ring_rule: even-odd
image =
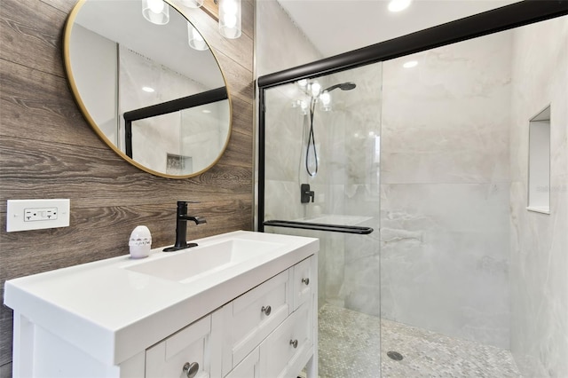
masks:
[[[81,0],[64,36],[85,118],[126,161],[162,177],[199,175],[229,141],[231,103],[209,45],[162,0]]]

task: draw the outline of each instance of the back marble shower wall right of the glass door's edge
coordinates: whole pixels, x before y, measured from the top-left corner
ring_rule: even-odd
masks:
[[[488,35],[383,65],[382,316],[502,348],[511,41]]]

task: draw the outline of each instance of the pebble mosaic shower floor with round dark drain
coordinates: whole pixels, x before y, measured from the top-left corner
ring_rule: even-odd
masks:
[[[382,329],[376,317],[325,304],[319,310],[319,378],[377,378],[379,369],[382,378],[522,377],[509,350],[386,319],[380,324]],[[387,357],[390,350],[403,359]]]

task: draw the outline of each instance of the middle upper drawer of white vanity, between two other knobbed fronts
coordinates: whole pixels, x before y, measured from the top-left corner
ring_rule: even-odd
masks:
[[[224,374],[288,317],[291,309],[289,272],[281,272],[223,307]]]

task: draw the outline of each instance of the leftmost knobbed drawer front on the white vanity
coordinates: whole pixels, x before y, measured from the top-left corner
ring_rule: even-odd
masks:
[[[197,363],[195,378],[210,376],[211,315],[146,350],[146,378],[179,377],[186,363]]]

